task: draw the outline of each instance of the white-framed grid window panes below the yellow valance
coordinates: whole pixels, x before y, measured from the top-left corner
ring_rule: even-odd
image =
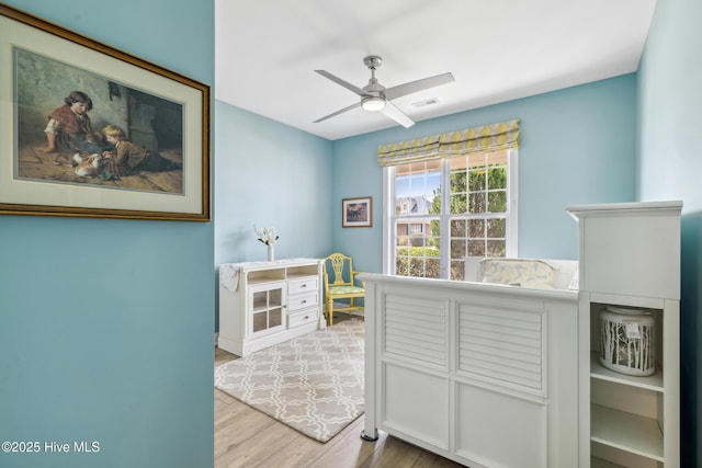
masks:
[[[386,272],[462,281],[466,255],[516,256],[517,151],[385,167]]]

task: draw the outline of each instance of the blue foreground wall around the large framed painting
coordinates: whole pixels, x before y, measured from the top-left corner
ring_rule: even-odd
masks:
[[[212,0],[9,4],[214,81]],[[0,216],[0,441],[100,444],[0,466],[212,466],[213,224]]]

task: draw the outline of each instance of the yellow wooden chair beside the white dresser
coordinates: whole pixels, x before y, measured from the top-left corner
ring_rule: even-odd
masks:
[[[365,296],[365,285],[358,286],[353,270],[353,260],[342,253],[332,253],[325,259],[325,315],[329,324],[333,324],[333,312],[351,312],[363,310],[363,306],[353,304],[353,299]],[[349,299],[349,303],[335,303],[336,299]],[[337,307],[335,309],[335,307]]]

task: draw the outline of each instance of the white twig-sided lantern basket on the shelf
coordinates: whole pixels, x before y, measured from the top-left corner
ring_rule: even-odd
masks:
[[[600,312],[600,363],[633,376],[656,372],[655,320],[645,309],[605,306]]]

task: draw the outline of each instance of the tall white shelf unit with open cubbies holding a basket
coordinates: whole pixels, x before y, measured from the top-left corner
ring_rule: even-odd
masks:
[[[680,202],[568,207],[579,222],[579,466],[680,466]],[[656,369],[598,359],[607,306],[653,313]]]

